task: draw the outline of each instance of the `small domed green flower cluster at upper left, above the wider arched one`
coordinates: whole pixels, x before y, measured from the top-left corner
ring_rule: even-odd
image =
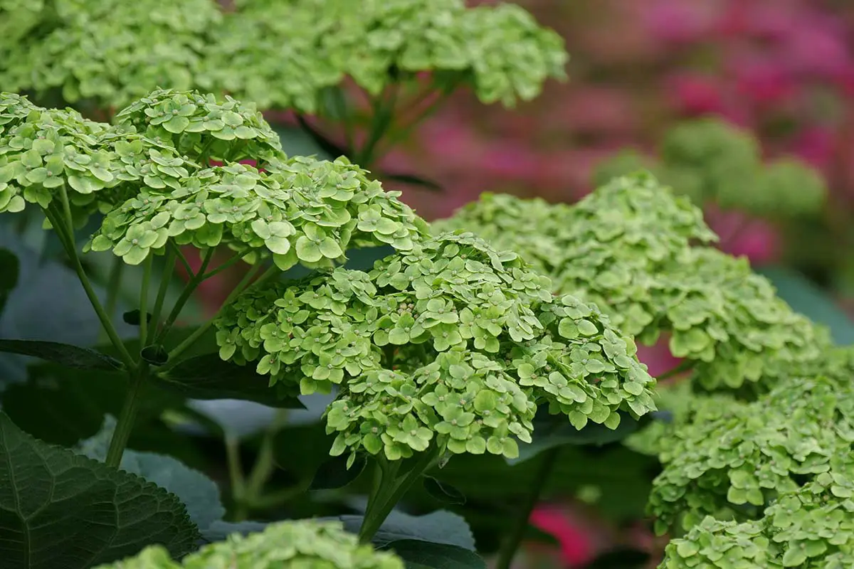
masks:
[[[179,154],[202,165],[211,159],[252,159],[261,166],[282,151],[278,135],[254,104],[230,96],[218,101],[198,91],[155,90],[122,109],[115,121],[149,138],[170,141]]]

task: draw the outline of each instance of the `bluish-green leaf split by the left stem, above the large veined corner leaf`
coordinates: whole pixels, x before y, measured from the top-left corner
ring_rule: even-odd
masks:
[[[115,430],[115,418],[107,415],[101,430],[94,437],[82,441],[78,450],[98,462],[107,458],[110,438]],[[190,520],[201,530],[222,520],[225,508],[219,499],[219,488],[213,480],[172,456],[153,452],[125,450],[120,468],[172,492],[181,499],[190,514]]]

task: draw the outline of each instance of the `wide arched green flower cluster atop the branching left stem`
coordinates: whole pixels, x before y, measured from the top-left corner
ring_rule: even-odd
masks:
[[[179,183],[149,184],[115,207],[93,235],[94,251],[139,264],[172,238],[178,245],[223,243],[244,258],[272,256],[282,270],[331,266],[349,246],[411,249],[426,224],[346,159],[272,159],[214,166]]]

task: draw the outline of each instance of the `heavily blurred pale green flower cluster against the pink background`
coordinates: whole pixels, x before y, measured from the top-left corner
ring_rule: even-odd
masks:
[[[708,201],[761,216],[792,218],[820,211],[827,188],[802,161],[781,158],[763,165],[748,131],[720,119],[676,125],[658,148],[660,160],[625,150],[599,165],[594,180],[647,168],[698,205]]]

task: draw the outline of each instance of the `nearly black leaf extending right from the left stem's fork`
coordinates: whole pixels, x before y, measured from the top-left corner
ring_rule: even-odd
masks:
[[[243,399],[280,409],[304,409],[295,397],[280,397],[266,375],[253,366],[224,362],[219,354],[189,357],[166,373],[155,376],[155,385],[193,399]]]

